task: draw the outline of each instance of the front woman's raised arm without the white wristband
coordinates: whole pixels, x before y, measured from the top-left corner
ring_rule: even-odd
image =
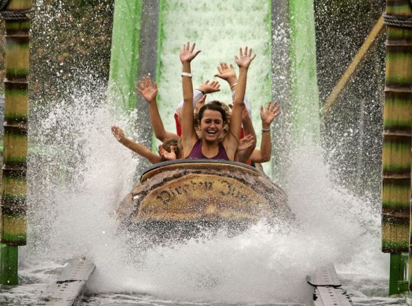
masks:
[[[233,110],[230,119],[230,132],[228,137],[223,139],[223,145],[227,150],[229,158],[234,156],[239,144],[240,129],[242,127],[242,111],[244,108],[244,93],[246,91],[247,71],[249,65],[256,55],[252,56],[252,49],[248,47],[240,48],[239,57],[235,56],[236,63],[240,69],[238,84],[236,85],[235,99],[233,100]]]

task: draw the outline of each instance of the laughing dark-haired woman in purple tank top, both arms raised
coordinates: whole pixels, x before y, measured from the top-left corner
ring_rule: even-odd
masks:
[[[201,132],[201,139],[199,139],[193,127],[193,84],[190,67],[190,62],[200,52],[200,50],[194,52],[195,46],[196,44],[191,47],[190,43],[186,43],[180,51],[183,67],[182,155],[185,158],[213,158],[234,161],[242,126],[247,71],[255,55],[251,56],[252,49],[248,50],[248,47],[245,47],[244,51],[240,48],[239,57],[235,56],[240,73],[233,100],[229,132],[221,139],[223,126],[227,123],[225,110],[216,103],[209,103],[205,104],[198,113],[198,124]]]

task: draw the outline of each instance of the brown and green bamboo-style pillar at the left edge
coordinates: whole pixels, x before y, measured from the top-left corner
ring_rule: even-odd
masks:
[[[0,283],[19,283],[18,246],[26,244],[26,159],[29,73],[27,13],[32,0],[10,0],[5,7],[5,110],[3,193],[1,196]]]

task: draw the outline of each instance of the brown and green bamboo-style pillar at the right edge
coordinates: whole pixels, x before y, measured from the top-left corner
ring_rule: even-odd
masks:
[[[382,251],[391,253],[390,294],[398,293],[398,281],[404,276],[403,263],[398,259],[400,253],[408,252],[410,244],[412,136],[412,29],[391,19],[404,20],[411,16],[409,0],[387,0]],[[398,272],[392,274],[392,271]]]

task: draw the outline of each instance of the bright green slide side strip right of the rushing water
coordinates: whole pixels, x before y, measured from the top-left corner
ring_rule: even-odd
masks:
[[[319,143],[313,0],[289,0],[290,122],[293,145]]]

